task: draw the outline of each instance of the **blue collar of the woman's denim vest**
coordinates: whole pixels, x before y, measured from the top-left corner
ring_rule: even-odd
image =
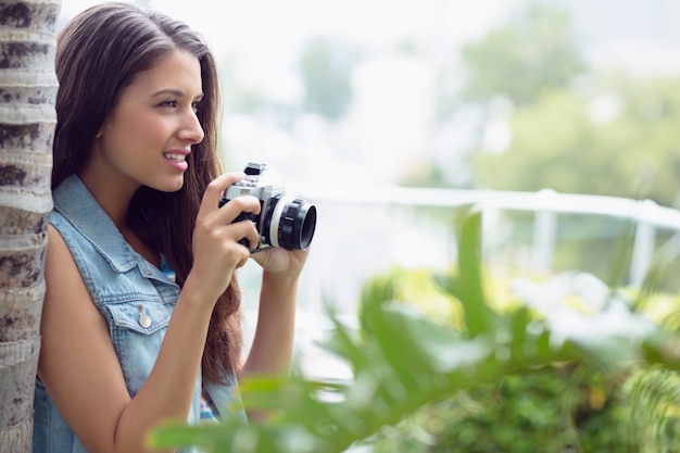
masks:
[[[54,210],[78,229],[92,247],[118,272],[127,272],[144,260],[125,241],[111,217],[99,205],[77,175],[65,178],[53,192]]]

